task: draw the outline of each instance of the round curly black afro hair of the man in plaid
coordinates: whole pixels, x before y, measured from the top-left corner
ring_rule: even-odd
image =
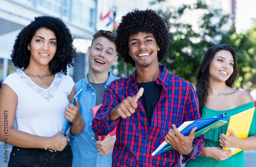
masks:
[[[129,56],[128,40],[130,35],[146,32],[154,34],[160,51],[157,54],[158,61],[164,60],[168,55],[169,47],[169,31],[162,17],[154,10],[138,10],[127,13],[122,17],[122,20],[117,28],[116,48],[117,52],[124,59],[124,62],[131,63],[135,66],[135,62]]]

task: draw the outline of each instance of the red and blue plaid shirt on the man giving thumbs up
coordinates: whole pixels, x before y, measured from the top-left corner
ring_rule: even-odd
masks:
[[[172,125],[179,127],[185,121],[200,118],[198,99],[193,85],[168,74],[164,66],[159,66],[160,76],[156,82],[163,86],[161,97],[152,115],[151,126],[148,123],[141,100],[131,117],[110,122],[110,111],[126,97],[133,97],[138,92],[135,81],[136,71],[127,78],[114,80],[105,90],[103,105],[97,111],[92,122],[92,129],[98,135],[106,135],[115,127],[112,166],[180,166],[180,153],[176,150],[152,156],[164,141],[164,136]],[[182,162],[194,159],[202,153],[204,135],[193,141],[195,152],[190,157],[183,157]]]

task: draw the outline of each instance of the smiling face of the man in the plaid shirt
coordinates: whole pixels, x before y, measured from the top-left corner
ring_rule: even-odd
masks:
[[[157,45],[156,38],[152,33],[139,32],[135,35],[130,35],[128,40],[129,55],[135,61],[137,67],[147,67],[151,64],[157,64],[157,52],[160,47]]]

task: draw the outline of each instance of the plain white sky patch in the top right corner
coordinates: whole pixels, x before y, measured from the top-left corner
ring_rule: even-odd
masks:
[[[236,28],[238,32],[248,30],[251,25],[251,18],[256,19],[255,0],[237,0]]]

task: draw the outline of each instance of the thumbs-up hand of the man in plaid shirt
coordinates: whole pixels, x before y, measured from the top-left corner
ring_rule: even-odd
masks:
[[[120,104],[110,112],[110,122],[115,121],[121,116],[122,118],[130,117],[138,107],[137,101],[142,96],[144,89],[140,88],[138,93],[133,97],[125,98]]]

